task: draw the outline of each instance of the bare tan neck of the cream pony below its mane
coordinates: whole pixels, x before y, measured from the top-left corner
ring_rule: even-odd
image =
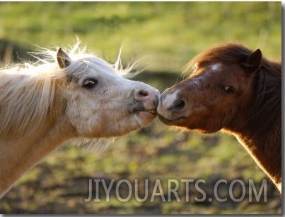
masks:
[[[23,140],[0,138],[0,199],[16,180],[73,135],[63,120],[50,121]]]

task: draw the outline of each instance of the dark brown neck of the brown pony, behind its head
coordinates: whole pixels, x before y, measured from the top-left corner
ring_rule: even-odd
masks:
[[[281,192],[281,64],[264,59],[255,79],[251,106],[224,129],[238,138]]]

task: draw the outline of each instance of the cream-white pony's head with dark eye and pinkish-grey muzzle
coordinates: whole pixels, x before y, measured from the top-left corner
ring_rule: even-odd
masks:
[[[122,77],[120,56],[112,65],[95,55],[68,55],[57,50],[64,72],[65,116],[78,136],[102,138],[123,135],[147,126],[156,118],[159,91]]]

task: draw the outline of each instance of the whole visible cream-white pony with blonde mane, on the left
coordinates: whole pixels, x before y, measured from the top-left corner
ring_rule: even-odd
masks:
[[[122,77],[120,55],[111,65],[76,50],[0,70],[0,198],[66,140],[124,135],[156,118],[159,91]]]

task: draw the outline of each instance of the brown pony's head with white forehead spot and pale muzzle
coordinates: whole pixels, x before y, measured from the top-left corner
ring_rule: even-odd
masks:
[[[256,72],[262,52],[241,45],[223,44],[194,57],[186,70],[187,79],[161,94],[158,114],[167,125],[214,133],[232,124],[253,103]]]

